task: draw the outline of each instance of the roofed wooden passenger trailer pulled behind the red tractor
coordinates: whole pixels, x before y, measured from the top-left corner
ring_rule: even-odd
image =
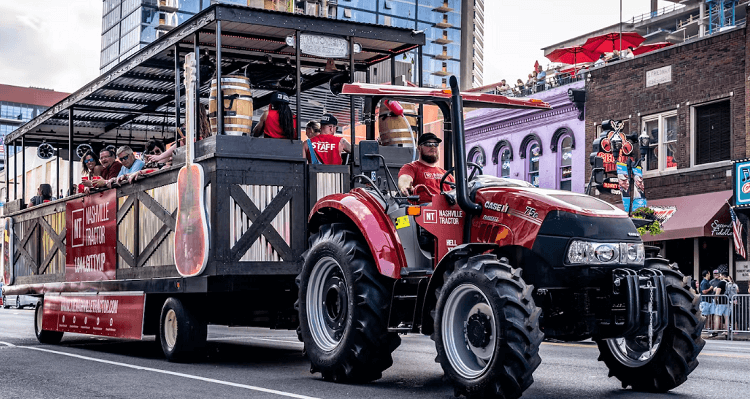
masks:
[[[176,139],[190,117],[186,109],[211,108],[212,90],[229,104],[231,78],[212,88],[212,77],[248,78],[256,109],[282,91],[298,117],[319,118],[323,110],[310,105],[310,93],[368,80],[373,66],[395,72],[395,58],[421,54],[424,43],[423,33],[409,29],[216,4],[6,136],[5,145],[42,146],[69,161],[67,173],[57,168],[50,183],[75,193],[73,168],[90,148],[85,145],[137,149],[150,138]],[[190,55],[198,55],[195,103],[183,76]],[[334,100],[345,123],[375,118],[374,105],[364,112],[361,98]],[[218,134],[194,148],[205,176],[195,194],[204,200],[208,233],[205,254],[193,254],[206,257],[197,275],[181,274],[175,264],[175,248],[187,234],[178,228],[184,147],[171,168],[133,184],[31,208],[24,195],[26,152],[12,160],[6,153],[3,293],[38,299],[41,342],[58,342],[65,332],[157,335],[166,356],[180,360],[203,346],[209,323],[297,328],[295,277],[308,247],[307,215],[319,198],[351,188],[359,161],[308,165],[299,137],[236,135],[229,121],[243,116],[225,107],[215,110]],[[385,152],[395,169],[412,156],[408,148]],[[10,175],[19,178],[11,184]]]

